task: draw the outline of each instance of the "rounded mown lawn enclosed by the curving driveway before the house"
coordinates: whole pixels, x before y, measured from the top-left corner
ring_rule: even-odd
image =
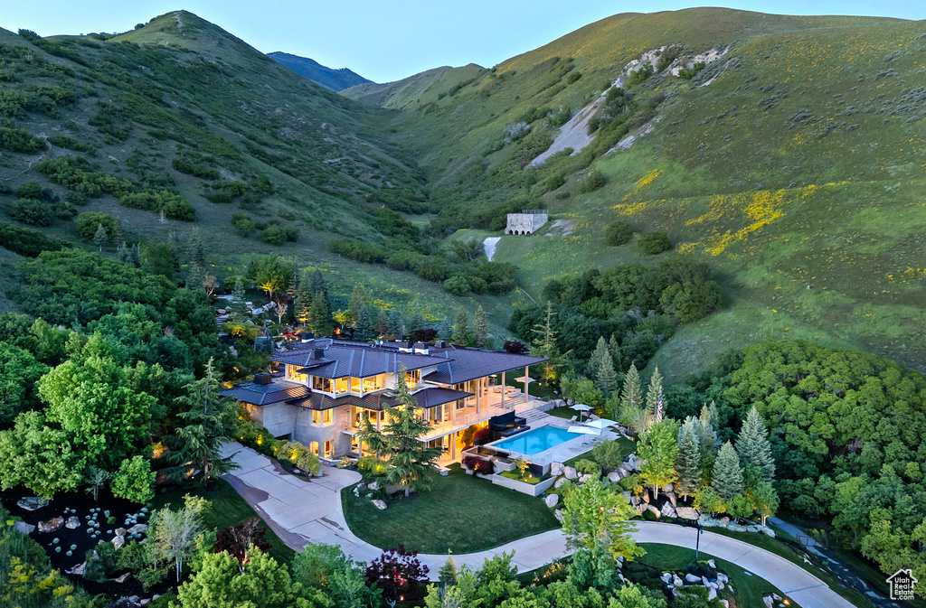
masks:
[[[469,476],[459,465],[446,477],[435,474],[432,490],[396,498],[385,511],[353,490],[341,490],[347,525],[382,548],[401,542],[424,553],[469,553],[559,527],[541,499]]]

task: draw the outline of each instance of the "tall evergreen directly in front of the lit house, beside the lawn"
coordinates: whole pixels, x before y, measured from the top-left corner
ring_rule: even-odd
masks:
[[[408,391],[406,367],[401,366],[396,374],[398,387],[396,399],[399,405],[387,410],[389,422],[383,428],[386,437],[385,453],[389,457],[386,478],[389,483],[403,486],[406,496],[409,492],[428,490],[432,484],[432,467],[441,455],[437,447],[423,447],[419,437],[431,431],[431,423],[416,414],[418,401]]]

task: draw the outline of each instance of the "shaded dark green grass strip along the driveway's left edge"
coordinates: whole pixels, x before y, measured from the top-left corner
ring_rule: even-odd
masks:
[[[202,496],[212,504],[203,520],[206,527],[215,528],[216,530],[235,526],[248,517],[257,515],[254,509],[244,502],[244,498],[228,482],[221,479],[209,489],[204,489],[201,484],[195,484],[183,488],[170,488],[164,492],[158,491],[152,501],[153,507],[157,509],[170,505],[171,508],[176,509],[182,506],[183,496],[186,494]],[[283,544],[280,537],[274,534],[269,527],[267,527],[267,534],[264,538],[270,545],[268,552],[270,557],[273,557],[280,564],[289,564],[293,561],[295,552]]]

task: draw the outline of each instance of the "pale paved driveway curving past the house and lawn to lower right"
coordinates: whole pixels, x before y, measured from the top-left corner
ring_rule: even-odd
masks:
[[[357,483],[359,473],[323,466],[322,477],[303,481],[283,471],[267,456],[239,443],[224,446],[225,454],[235,452],[234,460],[241,468],[225,478],[289,547],[302,551],[310,542],[336,544],[363,562],[380,555],[381,549],[357,538],[344,521],[341,490]],[[638,542],[694,549],[694,529],[658,522],[636,522],[636,525],[639,531],[633,538]],[[701,551],[765,578],[803,608],[852,606],[804,568],[742,540],[705,532],[701,536]],[[550,530],[489,551],[454,555],[454,561],[457,566],[465,564],[479,569],[485,559],[502,552],[514,552],[512,563],[519,572],[534,570],[569,553],[562,531]],[[436,577],[446,555],[419,554],[419,559]]]

